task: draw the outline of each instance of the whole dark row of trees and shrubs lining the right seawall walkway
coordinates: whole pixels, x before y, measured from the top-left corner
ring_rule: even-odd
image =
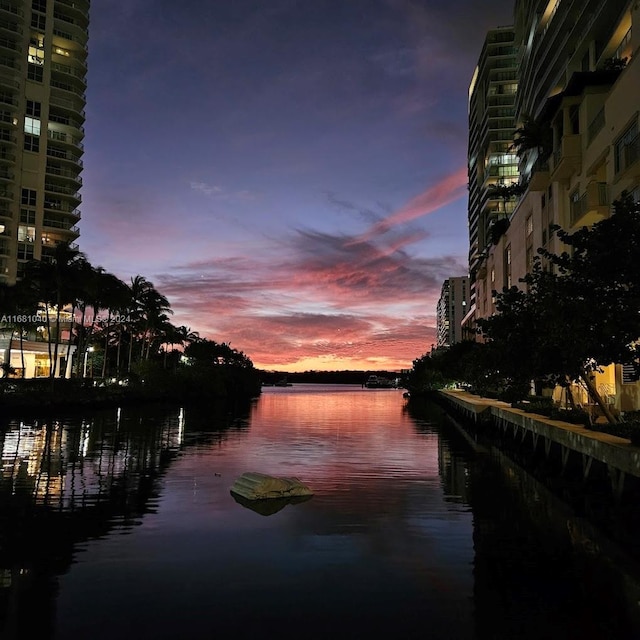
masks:
[[[523,286],[493,292],[496,312],[478,321],[479,341],[414,360],[411,398],[457,386],[640,444],[640,411],[616,410],[595,382],[612,364],[640,376],[640,203],[623,193],[613,207],[591,227],[553,227],[565,250],[539,249]],[[554,402],[554,389],[566,400]]]

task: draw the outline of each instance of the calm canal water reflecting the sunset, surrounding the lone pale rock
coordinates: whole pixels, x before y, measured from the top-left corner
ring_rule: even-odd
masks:
[[[1,638],[640,638],[624,552],[398,390],[5,420],[0,445]],[[257,513],[245,471],[315,495]]]

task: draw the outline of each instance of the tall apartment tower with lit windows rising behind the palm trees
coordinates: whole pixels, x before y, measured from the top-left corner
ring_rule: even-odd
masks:
[[[73,243],[89,0],[0,2],[0,282]]]

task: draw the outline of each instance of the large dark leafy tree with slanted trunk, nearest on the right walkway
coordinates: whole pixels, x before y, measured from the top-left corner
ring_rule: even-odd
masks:
[[[560,230],[570,251],[539,250],[542,259],[523,278],[527,290],[497,294],[497,314],[480,323],[502,368],[564,385],[581,380],[609,422],[616,418],[593,373],[613,363],[637,364],[640,354],[640,207],[624,195],[614,210],[590,228]]]

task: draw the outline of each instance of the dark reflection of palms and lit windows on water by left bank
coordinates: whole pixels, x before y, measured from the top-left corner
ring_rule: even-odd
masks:
[[[17,637],[25,620],[33,637],[49,637],[54,576],[67,571],[75,545],[130,532],[157,508],[159,480],[185,444],[223,441],[226,431],[246,428],[247,414],[145,407],[6,422],[0,637]]]

